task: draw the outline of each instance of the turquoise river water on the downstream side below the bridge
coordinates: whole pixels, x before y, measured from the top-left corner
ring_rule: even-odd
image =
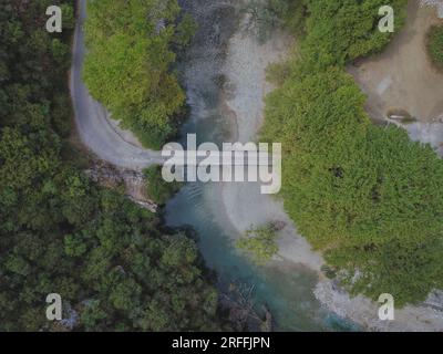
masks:
[[[208,268],[217,273],[218,287],[231,282],[255,285],[254,300],[265,303],[278,331],[349,331],[351,323],[320,309],[313,298],[316,274],[301,267],[276,262],[267,267],[250,263],[233,244],[235,230],[227,223],[215,184],[188,184],[166,206],[172,227],[192,226]]]

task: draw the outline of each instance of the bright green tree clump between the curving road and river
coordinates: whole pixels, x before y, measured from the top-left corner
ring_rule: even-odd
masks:
[[[87,2],[83,79],[146,147],[159,149],[177,134],[185,94],[172,69],[193,29],[177,0]]]

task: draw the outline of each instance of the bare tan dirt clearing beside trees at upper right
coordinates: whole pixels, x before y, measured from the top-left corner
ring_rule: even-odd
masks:
[[[435,23],[443,23],[435,8],[410,1],[406,24],[387,50],[349,67],[368,95],[373,119],[383,118],[391,108],[403,108],[421,123],[443,114],[443,74],[432,66],[425,48],[427,30]]]

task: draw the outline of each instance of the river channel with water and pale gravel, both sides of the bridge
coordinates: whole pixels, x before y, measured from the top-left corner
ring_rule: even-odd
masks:
[[[234,4],[236,3],[237,7]],[[220,144],[254,140],[262,121],[262,98],[272,88],[265,69],[282,60],[286,40],[269,40],[260,45],[254,33],[241,27],[238,1],[195,0],[184,3],[198,22],[198,31],[181,67],[187,92],[187,133],[197,142]],[[357,329],[352,323],[326,311],[313,295],[319,254],[297,235],[282,204],[260,195],[257,184],[187,184],[165,208],[169,226],[192,226],[208,268],[217,273],[217,284],[254,287],[257,308],[266,304],[278,331],[339,331]],[[251,225],[284,221],[279,257],[258,267],[239,252],[234,241]]]

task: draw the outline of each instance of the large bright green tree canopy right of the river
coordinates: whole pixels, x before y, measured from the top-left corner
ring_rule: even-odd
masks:
[[[389,43],[379,8],[394,8],[399,32],[406,0],[303,3],[306,37],[280,70],[261,132],[282,143],[286,209],[352,293],[424,300],[443,287],[443,162],[405,131],[372,125],[344,71]]]

